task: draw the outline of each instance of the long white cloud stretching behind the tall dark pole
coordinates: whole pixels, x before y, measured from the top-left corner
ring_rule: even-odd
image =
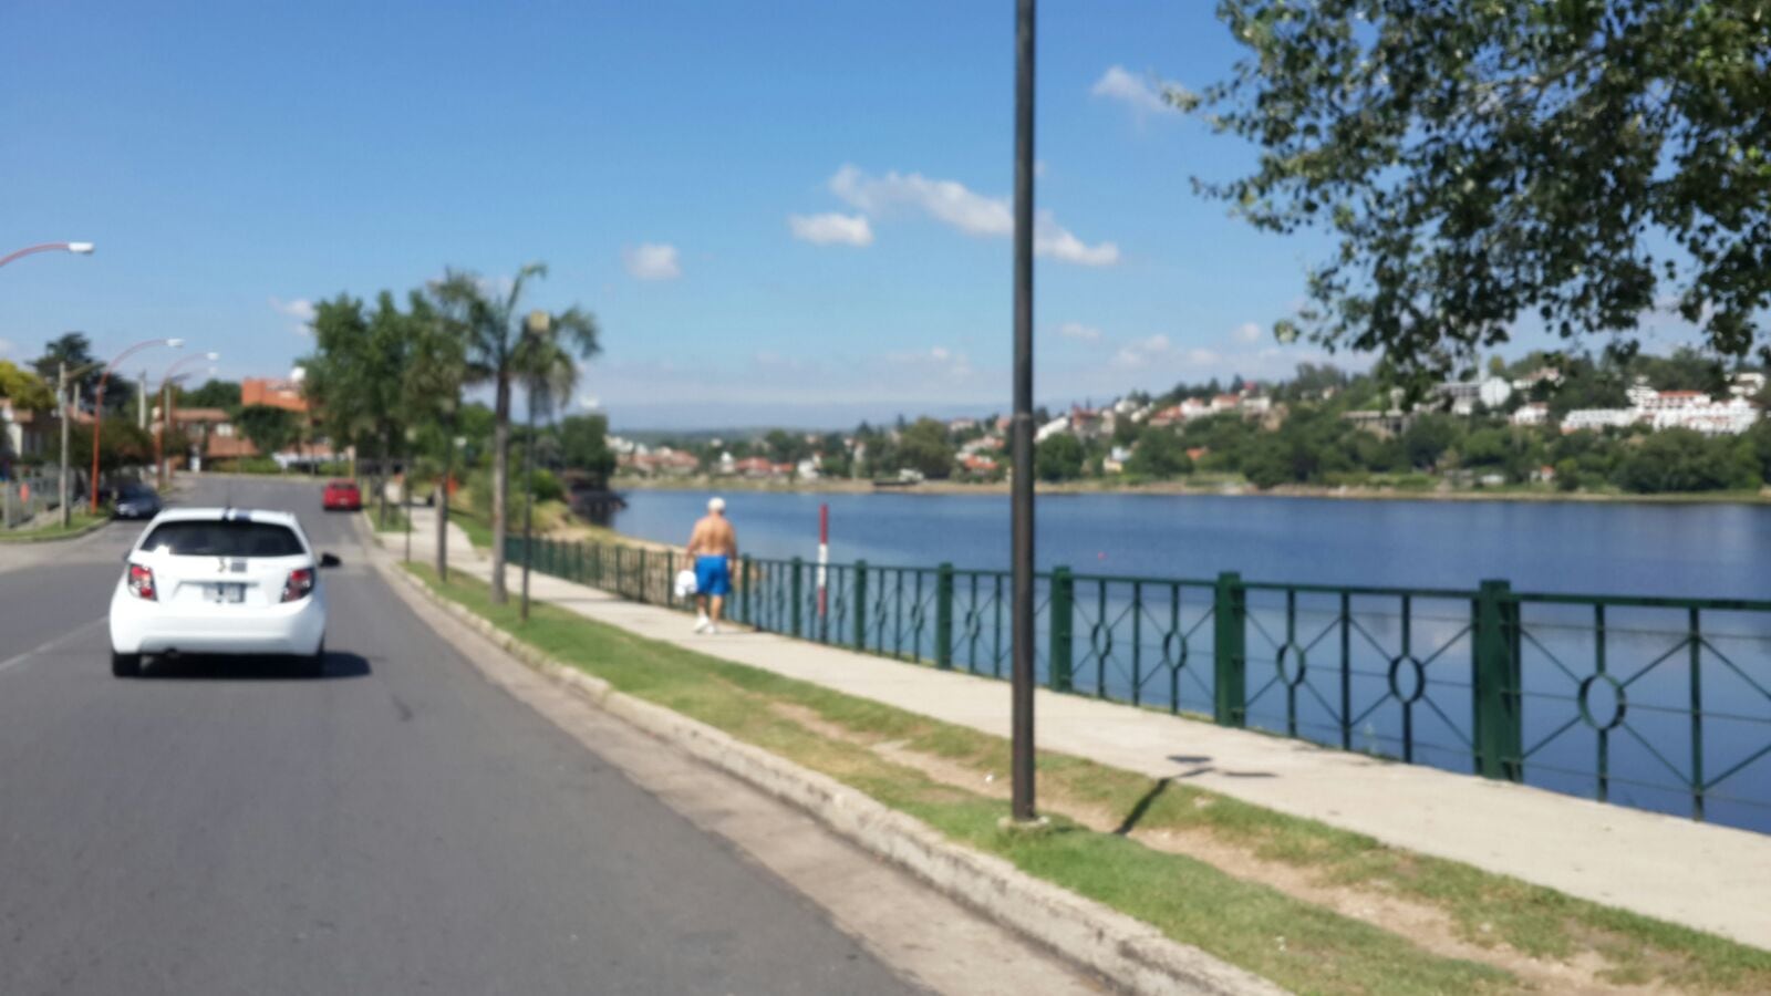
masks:
[[[875,177],[847,165],[831,177],[831,193],[870,218],[880,218],[896,207],[910,207],[967,236],[990,237],[1015,232],[1015,213],[1006,197],[985,197],[951,179],[896,170]],[[1032,248],[1040,255],[1079,266],[1119,262],[1118,245],[1091,246],[1059,225],[1050,211],[1040,211],[1034,218]]]

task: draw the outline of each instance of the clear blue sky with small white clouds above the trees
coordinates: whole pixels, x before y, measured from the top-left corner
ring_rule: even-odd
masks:
[[[1318,358],[1266,331],[1314,239],[1192,193],[1249,161],[1149,101],[1204,2],[1047,0],[1038,397]],[[1009,395],[1013,4],[11,4],[0,356],[182,335],[283,374],[305,303],[545,261],[616,425],[838,425]],[[145,354],[149,370],[172,353]],[[1360,363],[1358,360],[1353,360]]]

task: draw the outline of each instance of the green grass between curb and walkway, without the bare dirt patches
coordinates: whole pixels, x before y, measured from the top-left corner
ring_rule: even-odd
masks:
[[[1008,771],[1009,746],[1002,737],[645,640],[551,604],[537,606],[524,627],[514,606],[491,604],[482,581],[455,578],[446,588],[437,588],[432,571],[421,565],[411,569],[446,597],[629,695],[677,709],[797,764],[836,776],[886,805],[924,819],[955,840],[1011,858],[1024,870],[1155,923],[1171,936],[1226,961],[1305,991],[1392,991],[1388,985],[1351,984],[1353,978],[1365,978],[1353,969],[1344,978],[1348,985],[1339,982],[1330,985],[1330,977],[1316,973],[1293,978],[1279,973],[1289,964],[1286,959],[1279,957],[1280,968],[1275,969],[1273,953],[1261,943],[1249,943],[1249,936],[1259,938],[1257,930],[1272,929],[1268,941],[1295,952],[1312,938],[1335,934],[1335,930],[1318,934],[1300,927],[1319,925],[1319,916],[1330,916],[1337,922],[1337,929],[1357,927],[1350,938],[1364,938],[1358,932],[1376,930],[1374,927],[1339,918],[1275,890],[1222,875],[1206,863],[1151,851],[1118,833],[1094,833],[1073,822],[1061,822],[1057,833],[1041,836],[1036,844],[1025,844],[1020,835],[1001,835],[995,824],[1006,815],[1006,805],[937,783],[921,771],[889,764],[864,746],[818,735],[770,711],[770,704],[809,709],[818,720],[870,743],[901,743],[917,753],[976,771],[979,778],[988,771]],[[1091,812],[1112,813],[1114,822],[1126,828],[1135,824],[1139,829],[1206,831],[1220,842],[1252,851],[1261,860],[1307,868],[1316,881],[1326,884],[1380,890],[1429,904],[1450,916],[1463,939],[1477,945],[1505,943],[1527,955],[1551,961],[1597,953],[1610,966],[1603,978],[1613,984],[1771,992],[1771,952],[1727,938],[1574,899],[1458,861],[1388,847],[1358,833],[1086,759],[1041,751],[1038,773],[1040,790],[1047,799],[1064,799]],[[1121,877],[1133,868],[1132,879]],[[1199,893],[1204,888],[1201,877],[1210,881],[1204,893]],[[1178,883],[1178,888],[1151,890],[1148,888],[1151,881]],[[1179,883],[1188,884],[1179,888]],[[1211,923],[1197,923],[1188,916],[1197,913],[1201,895],[1206,897],[1201,916]],[[1279,914],[1272,909],[1264,914],[1254,913],[1275,900],[1288,911],[1309,913]],[[1288,916],[1293,914],[1302,920],[1288,930]],[[1367,952],[1367,945],[1369,941],[1362,941],[1335,952],[1337,957],[1351,959],[1355,964],[1385,964],[1387,955]],[[1420,953],[1417,948],[1411,950]],[[1318,952],[1312,957],[1326,955]],[[1450,962],[1450,959],[1436,961]],[[1450,964],[1481,969],[1459,987],[1514,987],[1488,975],[1493,969],[1486,966]],[[1431,973],[1413,971],[1411,962],[1394,962],[1385,971],[1403,971],[1403,977],[1426,989],[1438,987],[1429,984]],[[1410,984],[1408,989],[1419,991],[1420,985]]]

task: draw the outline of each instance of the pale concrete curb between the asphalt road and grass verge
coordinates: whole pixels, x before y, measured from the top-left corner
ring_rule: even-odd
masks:
[[[1284,989],[1171,941],[1155,927],[1034,879],[1011,863],[949,842],[933,828],[816,771],[808,771],[705,723],[615,691],[489,620],[437,595],[398,565],[377,558],[420,597],[464,622],[530,668],[694,759],[808,812],[832,831],[942,893],[978,909],[1128,992],[1273,994]]]

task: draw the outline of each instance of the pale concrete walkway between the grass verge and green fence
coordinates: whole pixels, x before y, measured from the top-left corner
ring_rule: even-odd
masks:
[[[425,546],[429,555],[436,533],[425,535],[432,537]],[[398,549],[398,539],[383,541]],[[450,564],[476,578],[491,578],[487,560],[459,556],[453,542]],[[515,572],[508,578],[515,588]],[[545,574],[533,574],[530,588],[540,601],[652,640],[986,734],[1009,734],[1008,682],[767,633],[698,636],[684,613],[622,601]],[[1767,835],[1385,762],[1075,695],[1041,689],[1034,711],[1041,750],[1155,778],[1185,780],[1396,847],[1771,950]]]

